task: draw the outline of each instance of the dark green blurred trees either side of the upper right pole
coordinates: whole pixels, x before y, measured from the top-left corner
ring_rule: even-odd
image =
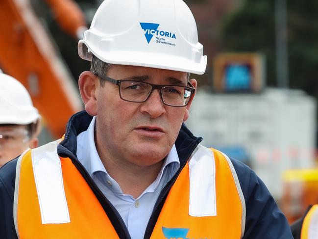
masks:
[[[318,98],[318,1],[288,0],[289,84]],[[260,52],[276,85],[275,0],[245,0],[221,27],[227,51]]]

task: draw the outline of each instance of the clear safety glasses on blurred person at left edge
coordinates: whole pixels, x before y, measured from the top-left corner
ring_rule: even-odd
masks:
[[[15,148],[29,140],[26,129],[0,130],[0,148]]]

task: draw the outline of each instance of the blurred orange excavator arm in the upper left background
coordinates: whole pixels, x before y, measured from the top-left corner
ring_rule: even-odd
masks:
[[[72,0],[46,0],[59,26],[80,38],[85,17]],[[29,0],[0,0],[0,69],[20,80],[54,137],[83,108],[67,66],[56,52]]]

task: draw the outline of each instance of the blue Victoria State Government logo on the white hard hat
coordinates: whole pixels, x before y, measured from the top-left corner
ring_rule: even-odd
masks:
[[[156,23],[140,23],[141,28],[145,32],[147,43],[149,44],[153,36],[155,36],[155,43],[175,47],[175,43],[173,43],[173,40],[176,39],[175,33],[158,29],[159,25]]]

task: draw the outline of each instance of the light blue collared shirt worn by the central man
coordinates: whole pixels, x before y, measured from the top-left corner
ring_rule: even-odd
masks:
[[[84,131],[77,135],[77,158],[83,164],[94,182],[122,216],[131,239],[144,238],[148,220],[155,202],[164,186],[180,168],[178,154],[173,145],[164,159],[163,166],[156,180],[138,197],[122,193],[121,187],[107,173],[95,146],[94,128],[96,117]]]

